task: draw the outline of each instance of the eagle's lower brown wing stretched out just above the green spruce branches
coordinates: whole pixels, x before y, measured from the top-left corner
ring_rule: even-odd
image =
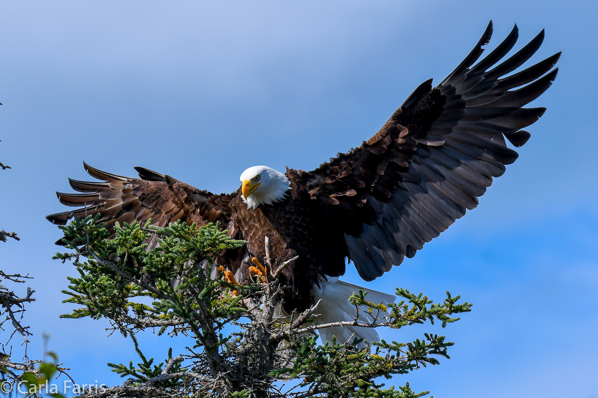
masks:
[[[109,230],[117,221],[121,224],[145,223],[151,218],[152,224],[160,227],[178,220],[198,226],[219,221],[230,236],[238,233],[230,209],[234,194],[214,195],[142,167],[135,168],[140,178],[130,178],[98,170],[86,163],[83,165],[101,182],[69,178],[72,189],[80,193],[57,192],[56,195],[63,205],[78,208],[48,215],[46,218],[51,223],[64,225],[69,218],[100,213],[100,220]],[[152,244],[155,241],[150,242]]]

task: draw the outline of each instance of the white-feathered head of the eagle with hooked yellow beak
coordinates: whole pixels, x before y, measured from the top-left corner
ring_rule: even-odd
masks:
[[[250,209],[280,202],[291,189],[288,177],[268,166],[250,167],[243,171],[239,180],[242,183],[243,202]]]

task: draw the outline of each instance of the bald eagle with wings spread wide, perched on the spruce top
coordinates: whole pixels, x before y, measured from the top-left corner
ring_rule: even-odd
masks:
[[[137,167],[139,178],[130,178],[84,164],[101,182],[70,180],[80,193],[57,193],[64,205],[84,207],[47,218],[65,224],[74,216],[99,213],[109,229],[117,221],[149,218],[157,226],[219,221],[228,235],[248,242],[215,258],[241,281],[251,277],[252,257],[265,257],[268,237],[277,261],[273,266],[298,256],[280,276],[288,286],[282,297],[287,311],[304,310],[323,298],[320,322],[353,319],[347,297],[359,286],[338,280],[347,260],[370,281],[413,257],[478,205],[492,178],[517,159],[505,138],[522,146],[530,137],[522,128],[545,111],[523,106],[550,87],[560,53],[509,75],[538,50],[544,30],[504,59],[518,38],[515,25],[474,65],[491,35],[492,21],[437,87],[432,79],[423,82],[373,137],[313,171],[253,166],[240,175],[237,192],[215,195],[146,168]],[[389,295],[371,293],[371,301],[392,301]],[[350,332],[355,331],[329,333]],[[362,331],[358,335],[376,338]]]

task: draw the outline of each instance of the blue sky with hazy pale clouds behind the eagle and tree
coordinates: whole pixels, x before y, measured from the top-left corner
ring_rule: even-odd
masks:
[[[0,5],[0,246],[5,271],[29,272],[26,320],[80,382],[120,382],[106,362],[134,358],[108,323],[59,319],[74,269],[51,260],[62,211],[55,190],[86,179],[81,161],[117,174],[146,166],[231,192],[252,165],[312,169],[358,146],[421,82],[440,82],[490,19],[493,48],[517,22],[520,44],[542,28],[531,62],[563,51],[548,111],[529,128],[480,206],[378,280],[474,303],[433,330],[450,360],[392,382],[435,397],[598,397],[595,17],[588,1],[30,2]],[[365,285],[354,269],[344,279]],[[1,337],[1,335],[0,335]],[[148,332],[158,358],[168,345]]]

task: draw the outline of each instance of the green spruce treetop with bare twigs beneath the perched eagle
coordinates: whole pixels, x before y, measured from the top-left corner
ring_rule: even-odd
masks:
[[[77,308],[62,317],[108,319],[130,338],[138,359],[109,363],[126,381],[87,390],[85,397],[421,397],[428,391],[415,393],[408,383],[386,387],[379,380],[448,359],[453,343],[444,336],[365,344],[353,338],[322,345],[318,330],[339,325],[401,329],[428,322],[444,327],[459,319],[454,315],[471,310],[449,292],[435,304],[426,295],[397,288],[398,303],[388,306],[368,301],[364,291],[349,298],[356,311],[372,314],[369,323],[356,316],[315,325],[310,321],[318,303],[303,313],[276,316],[283,288],[278,275],[293,260],[272,269],[267,255],[254,283],[237,285],[225,270],[209,277],[214,254],[246,243],[228,237],[218,224],[116,224],[114,239],[106,239],[109,232],[98,220],[99,215],[89,215],[59,227],[68,251],[54,258],[72,261],[77,270],[63,291],[69,296],[65,303]],[[145,242],[154,235],[159,245],[147,250]],[[161,362],[148,358],[137,339],[155,328],[164,341]],[[167,347],[177,335],[195,344],[173,353]]]

